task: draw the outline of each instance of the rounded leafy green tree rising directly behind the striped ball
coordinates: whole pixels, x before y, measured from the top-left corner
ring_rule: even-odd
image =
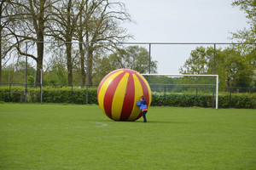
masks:
[[[97,83],[110,71],[126,68],[147,73],[149,68],[149,53],[146,48],[129,46],[118,49],[117,52],[98,59],[96,65]],[[151,73],[157,73],[157,61],[150,61]]]

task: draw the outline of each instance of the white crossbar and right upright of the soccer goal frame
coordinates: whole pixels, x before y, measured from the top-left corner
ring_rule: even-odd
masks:
[[[216,109],[218,109],[218,75],[189,75],[189,74],[142,74],[143,76],[163,77],[216,77]]]

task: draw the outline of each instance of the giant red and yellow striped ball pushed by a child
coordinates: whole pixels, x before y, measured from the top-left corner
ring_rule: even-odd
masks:
[[[136,121],[142,114],[137,99],[142,95],[151,103],[151,89],[147,80],[137,71],[120,69],[102,79],[97,91],[98,104],[114,121]]]

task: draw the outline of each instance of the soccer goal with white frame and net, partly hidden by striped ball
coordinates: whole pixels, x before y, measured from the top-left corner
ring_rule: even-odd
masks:
[[[218,109],[218,75],[143,74],[153,105],[200,106]]]

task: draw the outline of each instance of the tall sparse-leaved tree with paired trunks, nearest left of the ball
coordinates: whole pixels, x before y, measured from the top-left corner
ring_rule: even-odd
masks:
[[[76,35],[79,42],[86,43],[79,44],[82,83],[85,82],[84,55],[86,51],[89,56],[87,61],[88,83],[92,85],[96,51],[102,50],[102,48],[113,50],[113,48],[118,48],[114,42],[123,42],[130,38],[131,35],[127,34],[120,24],[131,22],[131,17],[126,11],[125,4],[121,2],[109,0],[83,0],[82,2],[84,3],[80,4],[84,6],[79,8],[81,15]]]

